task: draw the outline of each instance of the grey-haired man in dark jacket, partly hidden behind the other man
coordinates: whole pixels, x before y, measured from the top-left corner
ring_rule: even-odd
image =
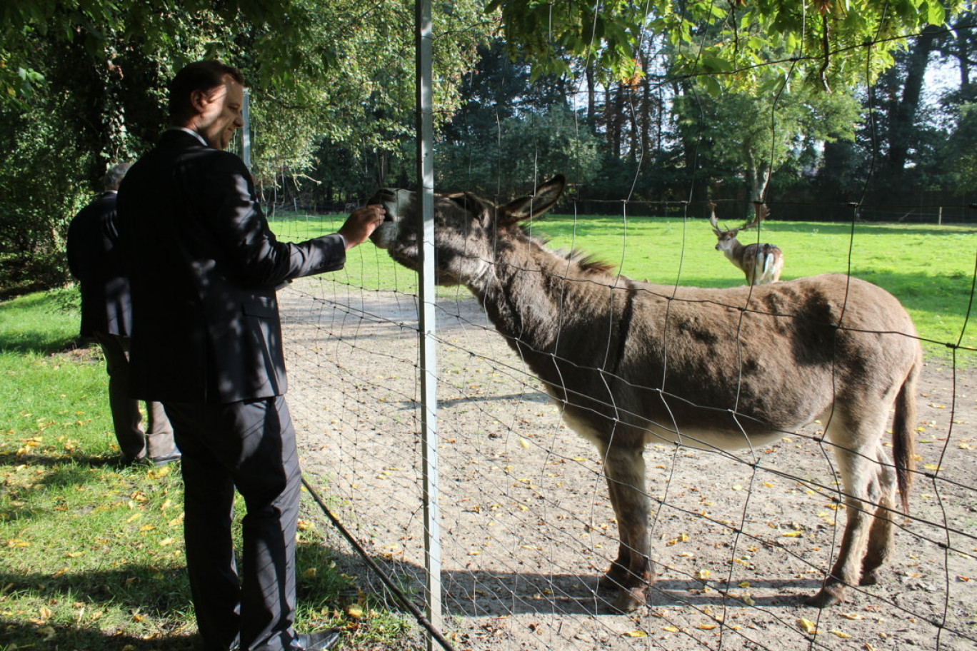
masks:
[[[132,305],[118,245],[115,195],[129,170],[121,163],[106,173],[102,195],[85,206],[67,229],[67,264],[81,289],[82,340],[96,340],[106,357],[108,407],[125,464],[162,466],[180,459],[173,428],[163,406],[146,403],[147,424],[139,401],[129,397],[129,333]]]

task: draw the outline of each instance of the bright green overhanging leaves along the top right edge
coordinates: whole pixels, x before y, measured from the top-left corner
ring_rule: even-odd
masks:
[[[566,71],[568,58],[596,61],[607,79],[642,69],[634,53],[648,33],[675,48],[671,72],[722,85],[775,88],[786,77],[826,89],[870,81],[892,62],[900,38],[942,25],[963,0],[491,0],[506,40]],[[773,86],[771,85],[773,84]]]

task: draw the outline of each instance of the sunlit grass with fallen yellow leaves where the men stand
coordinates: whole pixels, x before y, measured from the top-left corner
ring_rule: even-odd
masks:
[[[104,360],[71,346],[75,303],[0,304],[0,651],[189,650],[179,467],[118,465]],[[404,618],[358,596],[311,500],[301,517],[298,627],[346,627],[346,648],[403,643]],[[368,616],[353,619],[358,599]]]

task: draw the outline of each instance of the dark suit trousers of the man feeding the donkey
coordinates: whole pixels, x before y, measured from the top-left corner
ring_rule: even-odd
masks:
[[[302,473],[284,397],[165,405],[183,453],[187,570],[204,648],[290,648]],[[246,509],[240,576],[235,488]]]

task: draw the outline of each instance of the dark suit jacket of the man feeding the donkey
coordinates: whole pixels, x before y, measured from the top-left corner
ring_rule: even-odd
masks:
[[[167,131],[126,174],[133,397],[228,403],[285,392],[276,287],[342,268],[340,235],[278,242],[240,158]]]

